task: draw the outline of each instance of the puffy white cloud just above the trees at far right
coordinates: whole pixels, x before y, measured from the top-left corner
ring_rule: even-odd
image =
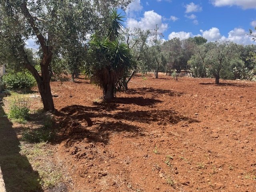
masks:
[[[234,28],[234,30],[228,32],[228,40],[243,45],[254,43],[248,32],[242,28]]]

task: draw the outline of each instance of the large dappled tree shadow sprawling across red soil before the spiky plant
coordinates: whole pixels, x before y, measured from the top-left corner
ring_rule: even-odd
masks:
[[[127,100],[124,102],[120,102],[122,98],[119,99],[114,101],[127,103],[128,99],[132,100],[133,98],[126,98]],[[198,122],[172,110],[130,111],[127,108],[118,108],[118,106],[113,102],[102,102],[92,107],[73,105],[62,108],[55,113],[55,126],[59,130],[56,142],[66,139],[82,141],[87,138],[90,142],[107,144],[113,133],[126,132],[132,137],[144,136],[143,130],[135,126],[134,122],[144,124],[157,122],[158,125],[165,126],[180,121]],[[114,110],[118,112],[112,112]]]

